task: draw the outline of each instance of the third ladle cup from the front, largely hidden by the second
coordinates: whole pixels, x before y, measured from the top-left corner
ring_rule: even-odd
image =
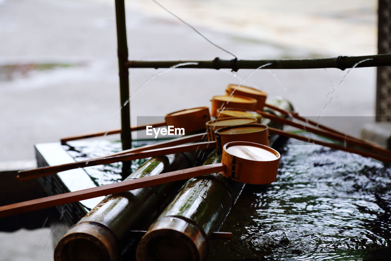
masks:
[[[215,130],[221,129],[222,127],[256,123],[257,118],[255,117],[227,117],[216,120],[211,120],[206,123],[206,132],[208,134],[208,140],[216,140]]]

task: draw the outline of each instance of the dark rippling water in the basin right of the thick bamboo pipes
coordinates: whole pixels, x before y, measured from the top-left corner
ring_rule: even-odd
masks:
[[[245,187],[208,260],[391,260],[389,166],[293,139],[278,151],[277,180]]]

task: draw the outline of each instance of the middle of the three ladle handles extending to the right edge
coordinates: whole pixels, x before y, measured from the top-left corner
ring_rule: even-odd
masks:
[[[312,132],[312,133],[320,135],[320,136],[324,136],[324,137],[331,138],[331,139],[334,139],[334,140],[337,140],[337,141],[341,141],[341,142],[346,142],[346,144],[348,144],[348,145],[357,146],[357,147],[360,147],[360,148],[363,148],[363,149],[366,149],[366,150],[370,150],[372,152],[376,152],[376,153],[383,154],[385,156],[391,157],[391,151],[390,150],[386,150],[386,149],[383,149],[381,147],[374,147],[374,146],[368,145],[366,143],[363,143],[361,140],[356,140],[354,138],[349,138],[349,137],[346,137],[346,136],[343,136],[343,135],[340,135],[340,134],[337,134],[337,133],[334,133],[334,132],[330,132],[330,131],[327,131],[327,130],[321,130],[321,129],[315,129],[315,128],[312,128],[312,127],[308,127],[308,126],[305,126],[305,125],[293,122],[291,120],[287,120],[285,118],[282,118],[282,117],[279,117],[279,116],[275,116],[275,115],[267,113],[267,112],[263,112],[263,111],[256,111],[256,112],[261,114],[262,117],[270,119],[272,121],[277,121],[277,122],[280,122],[280,123],[283,123],[283,124],[286,124],[286,125],[289,125],[289,126],[301,129],[301,130]]]

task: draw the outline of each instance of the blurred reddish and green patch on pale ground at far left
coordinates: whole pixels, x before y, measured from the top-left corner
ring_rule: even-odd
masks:
[[[69,68],[82,65],[82,63],[19,63],[0,65],[0,82],[27,78],[33,71],[48,71],[57,68]]]

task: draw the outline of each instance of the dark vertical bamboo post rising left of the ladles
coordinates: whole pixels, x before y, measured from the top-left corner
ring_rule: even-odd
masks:
[[[122,150],[127,150],[132,147],[132,134],[130,129],[130,101],[126,103],[129,99],[129,71],[125,65],[128,59],[128,53],[124,0],[115,0],[115,17],[117,22],[117,53],[120,78],[121,142]],[[130,163],[123,162],[122,166],[123,176],[126,177],[126,173],[130,169]]]

